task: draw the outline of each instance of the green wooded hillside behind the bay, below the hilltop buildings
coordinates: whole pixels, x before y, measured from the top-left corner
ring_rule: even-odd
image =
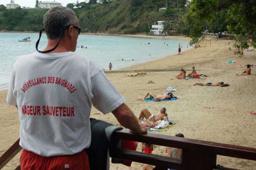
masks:
[[[166,6],[167,10],[159,12]],[[151,22],[173,20],[183,14],[186,0],[113,0],[104,4],[81,3],[74,9],[82,32],[135,34],[150,32]],[[178,8],[179,7],[179,8]],[[0,30],[39,31],[43,28],[45,9],[9,9],[0,11]],[[177,28],[180,32],[182,27]]]

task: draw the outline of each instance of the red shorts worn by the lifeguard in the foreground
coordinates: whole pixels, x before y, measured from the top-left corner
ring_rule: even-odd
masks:
[[[85,151],[74,155],[40,156],[23,149],[20,156],[21,170],[90,170]]]

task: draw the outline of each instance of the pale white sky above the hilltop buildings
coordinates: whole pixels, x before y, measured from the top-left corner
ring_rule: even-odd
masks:
[[[21,7],[35,7],[35,1],[36,0],[14,0],[16,4],[19,4]],[[53,0],[39,0],[40,1],[53,1]],[[62,6],[67,6],[68,3],[77,3],[77,0],[55,0],[62,4]],[[84,0],[79,0],[79,2],[83,2]],[[9,4],[11,0],[0,0],[0,4],[3,4],[6,6],[6,4]]]

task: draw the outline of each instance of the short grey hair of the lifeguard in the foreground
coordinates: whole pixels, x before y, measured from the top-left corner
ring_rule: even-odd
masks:
[[[62,29],[68,25],[77,25],[77,16],[72,9],[67,7],[54,7],[43,16],[43,27],[49,39],[61,36]],[[64,32],[63,32],[64,33]]]

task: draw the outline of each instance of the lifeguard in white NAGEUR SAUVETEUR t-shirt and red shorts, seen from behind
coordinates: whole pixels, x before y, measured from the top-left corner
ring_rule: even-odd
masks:
[[[81,32],[72,9],[54,7],[43,17],[44,50],[20,56],[13,67],[7,103],[18,108],[22,170],[89,170],[92,105],[112,112],[121,125],[146,133],[104,72],[74,53]],[[104,84],[104,88],[102,88]]]

